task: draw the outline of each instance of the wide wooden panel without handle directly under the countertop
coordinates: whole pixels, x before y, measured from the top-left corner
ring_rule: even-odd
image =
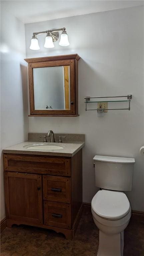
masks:
[[[70,176],[71,159],[4,154],[4,169],[5,171]]]

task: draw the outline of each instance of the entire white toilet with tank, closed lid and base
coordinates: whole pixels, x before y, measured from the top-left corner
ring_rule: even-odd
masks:
[[[95,156],[95,185],[101,188],[92,199],[93,220],[99,228],[97,256],[122,256],[124,229],[131,217],[123,191],[132,190],[134,158]]]

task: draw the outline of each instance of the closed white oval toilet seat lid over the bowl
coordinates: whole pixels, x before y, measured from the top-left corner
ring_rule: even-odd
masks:
[[[93,197],[91,207],[105,219],[121,219],[130,210],[130,203],[123,192],[99,190]]]

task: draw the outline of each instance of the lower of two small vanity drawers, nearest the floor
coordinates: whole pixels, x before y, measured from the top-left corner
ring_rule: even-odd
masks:
[[[71,205],[44,201],[44,225],[71,229]]]

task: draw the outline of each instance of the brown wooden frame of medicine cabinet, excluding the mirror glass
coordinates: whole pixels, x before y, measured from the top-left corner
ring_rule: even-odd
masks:
[[[29,116],[79,116],[78,115],[78,54],[24,59],[28,62]],[[70,110],[37,110],[34,105],[33,68],[70,66]]]

